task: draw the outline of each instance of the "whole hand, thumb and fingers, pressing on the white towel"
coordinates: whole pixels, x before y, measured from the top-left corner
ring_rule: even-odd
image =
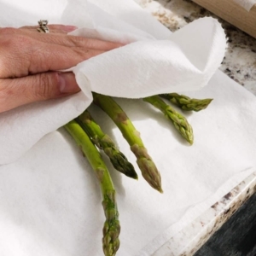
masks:
[[[0,28],[0,113],[21,105],[79,91],[67,69],[121,44],[67,35],[74,26]]]

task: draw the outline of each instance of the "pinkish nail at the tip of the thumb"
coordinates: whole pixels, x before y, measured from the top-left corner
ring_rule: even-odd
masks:
[[[79,92],[80,88],[77,84],[74,74],[68,73],[58,73],[59,75],[59,88],[61,94],[72,94]]]

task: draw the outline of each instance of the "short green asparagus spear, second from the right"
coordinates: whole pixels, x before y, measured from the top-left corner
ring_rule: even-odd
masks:
[[[193,130],[187,119],[181,113],[177,113],[175,109],[167,105],[161,100],[160,96],[148,96],[143,98],[144,102],[152,104],[155,108],[160,109],[165,114],[166,118],[171,119],[173,125],[179,133],[190,143],[193,144]]]

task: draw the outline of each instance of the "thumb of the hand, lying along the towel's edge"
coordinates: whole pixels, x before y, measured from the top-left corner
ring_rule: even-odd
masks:
[[[19,79],[0,79],[0,113],[31,102],[79,92],[73,73],[38,73]]]

